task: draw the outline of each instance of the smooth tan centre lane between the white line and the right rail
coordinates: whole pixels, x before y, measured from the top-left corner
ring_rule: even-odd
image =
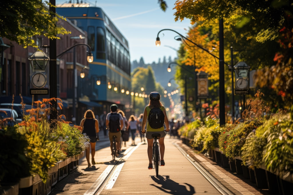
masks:
[[[148,169],[147,144],[127,158],[113,187],[100,194],[220,194],[172,144],[165,140],[165,166]],[[112,181],[109,181],[112,182]]]

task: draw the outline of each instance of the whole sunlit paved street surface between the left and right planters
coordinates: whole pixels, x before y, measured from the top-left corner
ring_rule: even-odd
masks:
[[[126,147],[122,147],[120,156],[125,155],[123,161],[99,194],[221,194],[217,189],[224,194],[265,194],[265,191],[251,186],[234,173],[204,155],[195,153],[180,140],[172,139],[168,135],[165,138],[166,165],[159,167],[159,176],[156,177],[154,169],[147,169],[147,144],[141,143],[140,138],[136,138],[136,143],[137,146],[131,146],[130,139]],[[51,194],[93,194],[101,182],[101,177],[113,167],[109,146],[108,139],[100,138],[96,144],[95,156],[98,164],[88,168],[86,158],[81,158],[77,170],[58,182],[52,188]],[[188,155],[184,156],[181,150]],[[191,157],[191,162],[186,157]],[[209,178],[211,175],[206,176],[212,180],[211,184],[202,175],[209,173],[196,169],[194,163],[202,164],[217,180]],[[225,191],[225,188],[223,190],[221,187],[224,186],[230,191]]]

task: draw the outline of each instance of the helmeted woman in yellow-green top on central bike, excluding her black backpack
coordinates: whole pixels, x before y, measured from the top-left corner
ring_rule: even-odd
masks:
[[[160,128],[152,128],[149,124],[149,122],[147,122],[147,119],[149,117],[149,113],[151,111],[151,109],[153,108],[159,108],[161,109],[161,111],[164,114],[164,123],[166,125],[166,131],[164,130],[164,126],[162,125]],[[145,125],[147,124],[147,131],[145,130]],[[149,94],[149,104],[144,108],[144,115],[143,115],[143,119],[142,119],[142,133],[146,133],[146,138],[147,138],[147,154],[149,157],[149,167],[148,169],[152,169],[153,168],[153,163],[152,163],[152,154],[153,154],[153,142],[154,142],[154,138],[151,137],[151,135],[153,133],[159,133],[161,134],[159,141],[160,144],[160,155],[161,155],[161,166],[165,165],[165,161],[164,161],[164,152],[165,152],[165,144],[164,144],[164,137],[167,134],[167,132],[169,131],[169,122],[168,122],[168,118],[167,118],[167,114],[166,114],[166,109],[165,107],[162,105],[161,101],[160,101],[160,94],[158,92],[151,92]]]

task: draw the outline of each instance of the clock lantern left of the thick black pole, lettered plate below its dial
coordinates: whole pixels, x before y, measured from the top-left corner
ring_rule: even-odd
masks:
[[[49,94],[49,65],[50,58],[43,51],[36,51],[28,58],[30,62],[30,94]]]

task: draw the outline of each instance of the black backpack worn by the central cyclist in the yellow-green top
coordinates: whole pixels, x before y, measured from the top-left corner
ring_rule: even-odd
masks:
[[[152,108],[149,111],[148,122],[153,129],[159,129],[164,125],[165,115],[160,108]]]

